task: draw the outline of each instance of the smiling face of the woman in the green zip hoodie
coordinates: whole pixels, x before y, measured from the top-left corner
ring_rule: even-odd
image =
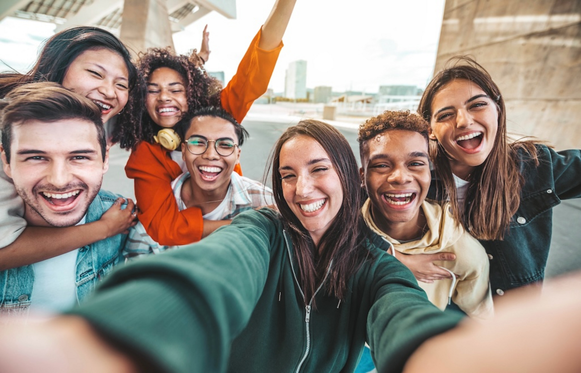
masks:
[[[316,246],[343,204],[339,175],[321,144],[304,135],[282,145],[279,165],[286,204]]]

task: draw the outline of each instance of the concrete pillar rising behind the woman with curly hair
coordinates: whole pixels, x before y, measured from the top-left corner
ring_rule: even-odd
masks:
[[[120,39],[134,53],[174,48],[166,0],[125,0]]]

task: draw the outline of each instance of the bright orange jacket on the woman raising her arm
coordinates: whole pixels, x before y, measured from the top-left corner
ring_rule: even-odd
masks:
[[[254,100],[266,92],[282,48],[281,42],[275,49],[260,49],[260,34],[256,34],[236,74],[220,93],[222,107],[238,122]],[[234,171],[242,175],[240,165]],[[138,218],[153,240],[162,245],[185,245],[202,239],[202,211],[197,207],[179,211],[175,202],[171,182],[182,170],[171,160],[170,151],[159,144],[141,142],[131,152],[125,173],[135,180]]]

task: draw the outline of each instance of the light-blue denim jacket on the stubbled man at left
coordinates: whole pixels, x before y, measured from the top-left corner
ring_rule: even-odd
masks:
[[[99,191],[87,210],[86,223],[101,219],[113,202],[120,197],[108,191]],[[123,257],[120,255],[125,245],[126,234],[105,238],[78,249],[75,281],[77,302],[91,293],[97,281],[109,273]],[[33,265],[0,271],[0,315],[27,312],[34,285]]]

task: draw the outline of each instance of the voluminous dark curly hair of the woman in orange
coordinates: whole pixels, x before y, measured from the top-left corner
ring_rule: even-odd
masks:
[[[141,73],[142,103],[145,103],[147,94],[146,82],[157,68],[168,67],[177,71],[186,85],[188,100],[187,116],[191,117],[194,111],[200,107],[220,106],[220,82],[210,77],[201,67],[199,57],[195,50],[191,56],[176,55],[171,48],[150,48],[139,57],[137,68]],[[149,117],[145,104],[135,107],[130,113],[123,113],[119,118],[120,131],[114,140],[119,141],[121,148],[132,149],[139,142],[153,143],[153,136],[161,129]]]

